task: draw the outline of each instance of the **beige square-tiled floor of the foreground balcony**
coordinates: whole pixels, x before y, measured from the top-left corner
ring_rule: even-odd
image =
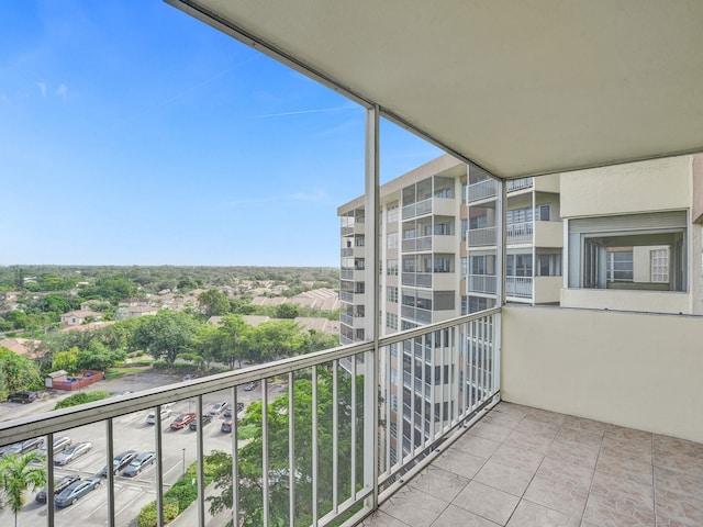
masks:
[[[501,403],[361,525],[701,527],[703,445]]]

